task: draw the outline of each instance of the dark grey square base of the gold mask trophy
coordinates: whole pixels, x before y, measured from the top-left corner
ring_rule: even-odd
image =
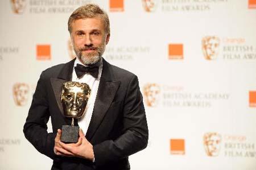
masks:
[[[77,143],[79,139],[79,126],[62,126],[60,141],[63,143]]]

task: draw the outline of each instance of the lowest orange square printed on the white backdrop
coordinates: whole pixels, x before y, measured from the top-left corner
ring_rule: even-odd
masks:
[[[185,154],[185,140],[171,139],[170,140],[171,154],[184,155]]]

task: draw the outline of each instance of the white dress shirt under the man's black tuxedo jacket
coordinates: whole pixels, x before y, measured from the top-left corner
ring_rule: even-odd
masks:
[[[103,63],[102,63],[102,59],[101,59],[100,66],[98,68],[98,78],[94,78],[89,73],[86,73],[81,78],[78,78],[76,76],[76,72],[75,72],[75,67],[77,64],[84,65],[81,63],[81,61],[79,59],[75,60],[74,67],[73,67],[73,73],[72,73],[72,81],[85,82],[86,84],[88,84],[90,86],[90,89],[91,89],[90,97],[88,99],[87,106],[84,111],[84,115],[83,115],[83,117],[79,118],[79,120],[78,120],[79,127],[82,129],[84,134],[86,134],[88,127],[89,127],[90,119],[92,118],[93,107],[94,107],[95,99],[96,99],[97,92],[98,92],[98,85],[100,84]]]

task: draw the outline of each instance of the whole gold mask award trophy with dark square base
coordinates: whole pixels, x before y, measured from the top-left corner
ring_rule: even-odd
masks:
[[[79,126],[74,126],[74,118],[78,119],[84,115],[90,91],[89,85],[82,82],[68,81],[63,84],[60,100],[64,117],[72,118],[72,124],[62,126],[61,142],[78,142]]]

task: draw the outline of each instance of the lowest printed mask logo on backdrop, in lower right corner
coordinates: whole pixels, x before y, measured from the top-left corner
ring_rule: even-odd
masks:
[[[220,152],[221,135],[216,132],[204,134],[204,148],[208,156],[218,156]]]

